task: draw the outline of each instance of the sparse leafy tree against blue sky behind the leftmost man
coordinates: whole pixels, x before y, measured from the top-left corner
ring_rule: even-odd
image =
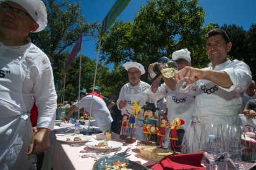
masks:
[[[94,39],[98,33],[98,22],[87,22],[80,14],[80,2],[70,4],[63,1],[56,4],[54,0],[43,0],[48,15],[48,26],[39,33],[31,33],[32,42],[45,54],[53,58],[54,82],[59,83],[64,75],[69,51],[80,33],[83,39]]]

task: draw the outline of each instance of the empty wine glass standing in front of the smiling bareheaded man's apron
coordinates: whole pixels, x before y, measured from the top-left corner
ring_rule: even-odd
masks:
[[[199,150],[210,162],[211,170],[213,170],[213,163],[224,154],[221,124],[203,124]]]

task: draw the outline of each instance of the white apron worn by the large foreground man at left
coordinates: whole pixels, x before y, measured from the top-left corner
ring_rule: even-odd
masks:
[[[20,54],[22,49],[0,46],[0,167],[1,169],[32,169],[34,156],[27,156],[33,136],[30,113],[22,97],[26,66],[23,60],[30,46],[23,49],[21,59],[4,57],[9,52]]]

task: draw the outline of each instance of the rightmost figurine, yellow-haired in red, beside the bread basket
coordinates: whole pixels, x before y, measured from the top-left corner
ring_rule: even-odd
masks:
[[[182,119],[179,119],[179,118],[177,118],[177,119],[174,119],[174,121],[173,121],[173,123],[171,123],[172,124],[172,126],[171,126],[171,134],[170,134],[170,136],[169,136],[169,139],[171,140],[171,145],[173,146],[173,152],[175,152],[175,147],[176,148],[180,148],[181,146],[176,146],[176,142],[175,141],[173,141],[173,140],[178,140],[178,138],[177,138],[177,129],[181,129],[181,125],[182,124],[184,124],[185,123],[185,121],[184,120],[182,120]],[[173,145],[173,142],[174,142],[174,145]],[[175,147],[174,147],[175,146]]]

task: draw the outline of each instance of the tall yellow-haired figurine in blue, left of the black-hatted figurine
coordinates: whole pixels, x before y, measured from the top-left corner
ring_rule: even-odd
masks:
[[[139,105],[140,105],[140,102],[137,102],[136,100],[134,100],[134,102],[130,104],[131,113],[126,109],[127,114],[130,115],[130,118],[128,121],[130,137],[126,139],[126,142],[130,144],[136,142],[136,138],[132,137],[132,134],[134,133],[133,129],[136,128],[135,119],[138,119],[138,115],[140,114]]]

